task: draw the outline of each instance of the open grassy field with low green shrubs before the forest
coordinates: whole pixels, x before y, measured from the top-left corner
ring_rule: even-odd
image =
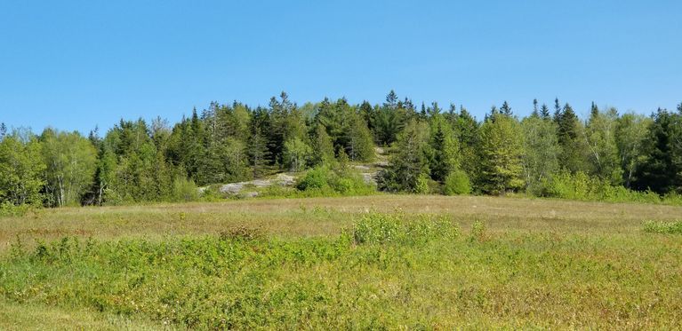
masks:
[[[674,329],[676,220],[411,195],[43,209],[0,218],[0,329]]]

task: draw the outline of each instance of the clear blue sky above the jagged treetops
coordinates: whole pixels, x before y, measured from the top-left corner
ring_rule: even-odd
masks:
[[[0,2],[0,122],[87,133],[212,100],[682,101],[682,2]]]

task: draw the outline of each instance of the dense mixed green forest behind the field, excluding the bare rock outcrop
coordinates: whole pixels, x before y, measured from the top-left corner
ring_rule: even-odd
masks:
[[[528,110],[519,118],[504,102],[479,121],[463,106],[415,106],[394,91],[381,105],[302,106],[283,92],[267,107],[212,103],[174,125],[121,120],[103,137],[2,124],[0,203],[176,201],[198,186],[277,171],[338,172],[339,164],[373,162],[377,146],[389,151],[376,178],[385,192],[594,200],[682,193],[682,104],[649,116],[593,104],[586,119],[558,99],[534,100]]]

